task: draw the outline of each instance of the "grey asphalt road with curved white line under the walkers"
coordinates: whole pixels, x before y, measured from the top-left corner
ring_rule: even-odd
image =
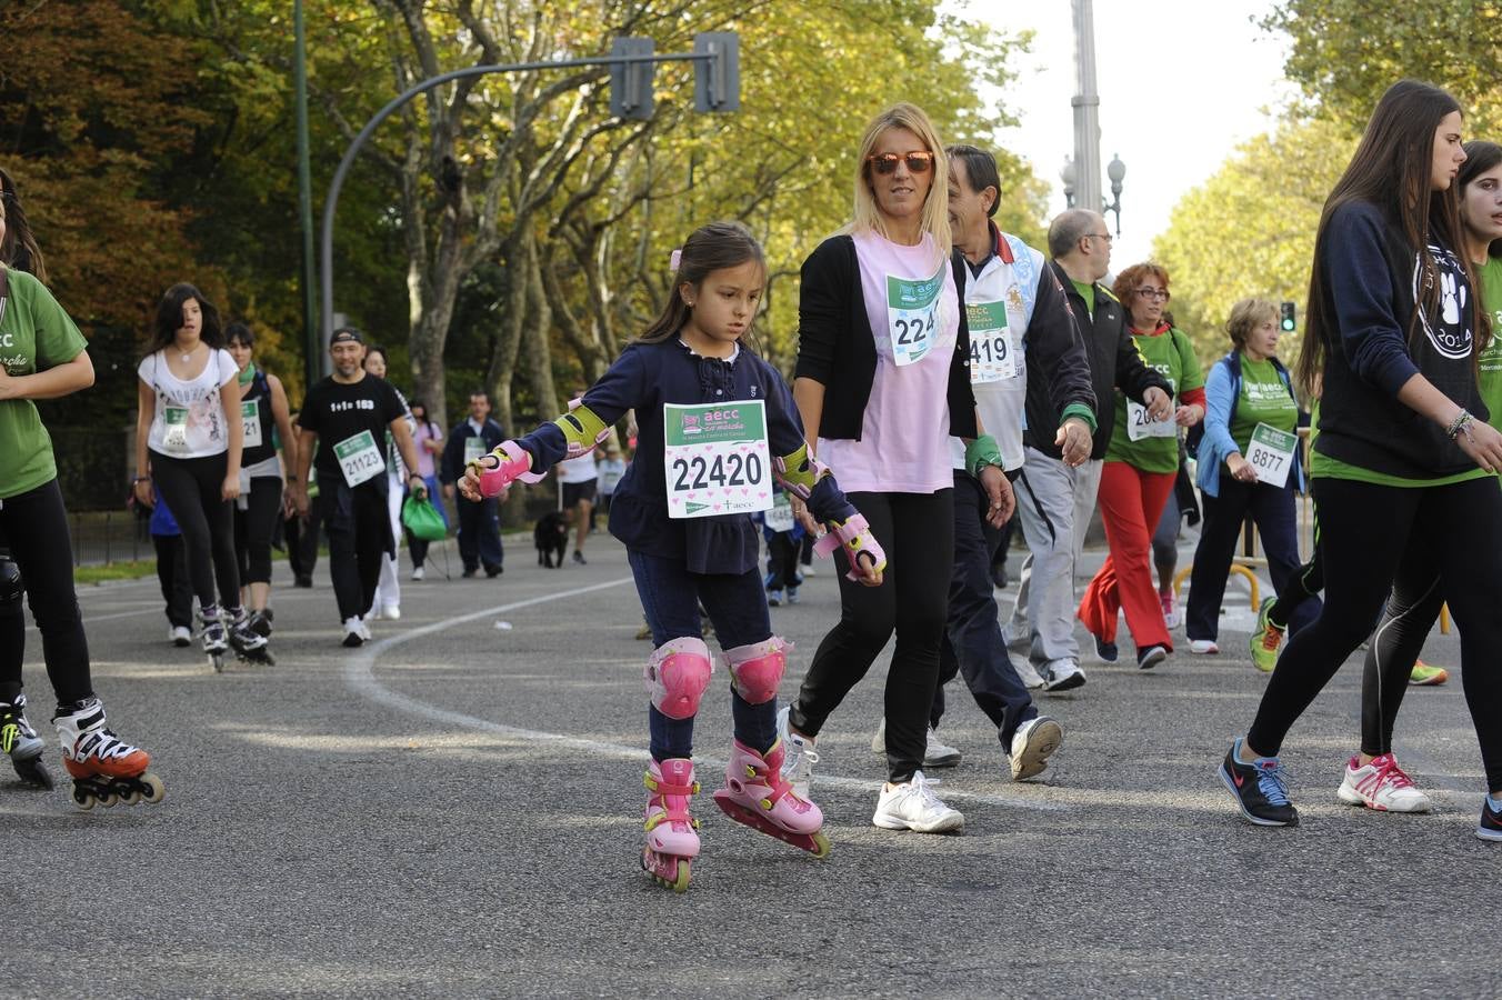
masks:
[[[1084,688],[1042,695],[1065,743],[1039,781],[1009,779],[951,686],[942,733],[964,760],[940,793],[967,824],[919,836],[870,824],[883,661],[819,742],[820,862],[709,802],[719,670],[700,715],[704,853],[677,896],[637,866],[649,644],[625,553],[596,538],[589,566],[542,569],[509,550],[494,581],[404,584],[404,617],[359,650],[338,644],[320,566],[314,590],[273,598],[278,665],[222,676],[165,643],[155,581],[86,589],[96,688],[167,799],[84,814],[0,764],[0,994],[1497,992],[1502,845],[1472,835],[1482,778],[1458,671],[1412,689],[1398,721],[1437,814],[1337,803],[1352,662],[1286,748],[1304,824],[1254,829],[1214,773],[1265,682],[1233,587],[1226,653],[1151,673],[1086,658]],[[772,613],[798,643],[784,695],[838,613],[822,566]],[[39,647],[32,632],[45,722]],[[1458,643],[1425,652],[1454,665]]]

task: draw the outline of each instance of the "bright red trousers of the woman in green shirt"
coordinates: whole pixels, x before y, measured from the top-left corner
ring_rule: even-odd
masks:
[[[1126,462],[1107,461],[1101,468],[1101,521],[1110,556],[1080,601],[1080,622],[1095,637],[1116,641],[1116,611],[1126,611],[1126,628],[1139,650],[1173,640],[1163,620],[1163,601],[1152,583],[1152,532],[1173,491],[1175,473],[1149,473]]]

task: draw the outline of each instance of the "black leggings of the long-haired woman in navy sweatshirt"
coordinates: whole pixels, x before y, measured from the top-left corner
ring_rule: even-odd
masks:
[[[1377,486],[1316,479],[1325,608],[1299,629],[1268,682],[1247,742],[1274,755],[1289,728],[1371,632],[1410,550],[1427,553],[1460,629],[1466,704],[1481,743],[1487,787],[1502,790],[1502,489],[1493,476],[1448,486]],[[1385,671],[1386,673],[1386,671]],[[1395,671],[1394,671],[1395,673]],[[1406,682],[1406,674],[1404,674]],[[1386,704],[1392,704],[1391,676]],[[1385,709],[1379,709],[1383,715]],[[1395,715],[1395,707],[1392,707]],[[1365,742],[1365,740],[1364,740]]]

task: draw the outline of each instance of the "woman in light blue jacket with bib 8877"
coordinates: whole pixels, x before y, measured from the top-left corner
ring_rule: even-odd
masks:
[[[1190,608],[1184,631],[1194,653],[1218,653],[1220,604],[1250,514],[1268,554],[1272,586],[1283,592],[1299,571],[1293,494],[1304,488],[1299,462],[1299,405],[1293,381],[1277,359],[1278,308],[1242,299],[1226,323],[1232,351],[1205,384],[1205,438],[1199,449],[1205,524],[1194,550]],[[1292,626],[1319,614],[1319,599],[1299,605]]]

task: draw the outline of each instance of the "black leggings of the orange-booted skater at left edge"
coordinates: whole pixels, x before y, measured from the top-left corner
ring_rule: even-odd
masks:
[[[11,544],[11,559],[21,568],[57,704],[83,701],[93,695],[89,640],[74,593],[74,547],[57,480],[0,502],[0,532]],[[0,613],[0,701],[15,701],[21,694],[24,655],[26,617],[21,604],[12,602]]]

